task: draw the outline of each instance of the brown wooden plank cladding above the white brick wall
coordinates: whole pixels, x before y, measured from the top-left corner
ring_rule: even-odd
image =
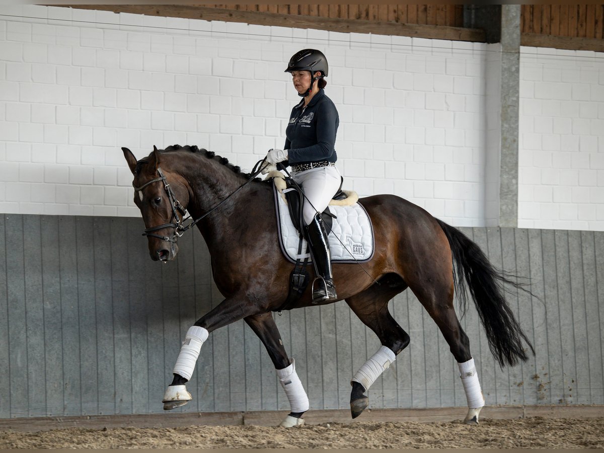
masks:
[[[484,42],[463,28],[463,5],[56,5],[206,21],[244,22],[342,33]],[[604,5],[522,5],[525,46],[604,51]]]

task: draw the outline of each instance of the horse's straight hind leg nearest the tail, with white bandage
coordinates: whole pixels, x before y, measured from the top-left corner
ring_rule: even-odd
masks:
[[[432,278],[431,281],[437,282],[439,279]],[[439,289],[439,286],[441,289]],[[484,397],[480,388],[480,381],[478,381],[474,359],[470,353],[470,342],[461,328],[453,307],[453,283],[452,281],[440,285],[434,283],[431,288],[426,286],[414,288],[410,284],[410,287],[431,318],[439,326],[451,353],[457,360],[468,406],[464,422],[469,425],[477,424],[478,414],[484,406]]]

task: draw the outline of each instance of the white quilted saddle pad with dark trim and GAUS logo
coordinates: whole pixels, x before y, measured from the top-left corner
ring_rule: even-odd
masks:
[[[277,207],[277,228],[281,251],[292,263],[296,262],[300,237],[289,215],[289,208],[279,190],[273,184],[275,206]],[[362,205],[329,206],[334,216],[332,231],[329,233],[329,248],[332,262],[356,263],[373,257],[373,226]],[[302,243],[302,258],[308,253],[306,239]],[[311,260],[309,259],[309,262]]]

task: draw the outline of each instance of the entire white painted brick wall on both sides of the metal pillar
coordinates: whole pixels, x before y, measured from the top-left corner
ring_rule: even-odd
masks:
[[[140,215],[121,146],[251,169],[283,146],[304,47],[329,58],[345,187],[496,224],[498,45],[37,5],[0,6],[0,212]],[[519,226],[602,230],[602,55],[554,52],[522,48]]]

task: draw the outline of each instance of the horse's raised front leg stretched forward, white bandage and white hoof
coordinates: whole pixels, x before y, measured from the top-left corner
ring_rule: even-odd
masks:
[[[252,303],[246,297],[228,298],[189,327],[172,371],[174,379],[165,391],[162,400],[164,410],[169,411],[184,406],[193,399],[185,384],[191,379],[199,352],[209,333],[242,318],[254,315],[259,309],[258,304]]]

